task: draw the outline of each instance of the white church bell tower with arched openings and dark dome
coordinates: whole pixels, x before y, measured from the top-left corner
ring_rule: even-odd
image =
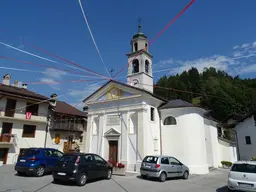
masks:
[[[143,49],[144,51],[142,52]],[[148,52],[148,39],[141,32],[140,23],[138,25],[138,32],[131,40],[131,52],[126,55],[129,62],[127,84],[153,93],[153,56]]]

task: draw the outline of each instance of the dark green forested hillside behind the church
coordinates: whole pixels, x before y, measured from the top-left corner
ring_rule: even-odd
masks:
[[[160,78],[154,93],[168,100],[183,99],[188,102],[201,96],[199,105],[212,110],[212,115],[217,120],[224,121],[230,114],[244,114],[255,108],[256,79],[232,77],[215,68],[206,68],[202,73],[191,68],[175,76]]]

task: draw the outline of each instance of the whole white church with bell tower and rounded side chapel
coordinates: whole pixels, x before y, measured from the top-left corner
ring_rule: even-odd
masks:
[[[127,172],[139,172],[146,155],[174,156],[192,174],[236,161],[236,145],[218,137],[218,122],[206,118],[205,109],[153,93],[153,56],[140,25],[130,46],[127,83],[110,80],[83,101],[85,152],[122,163]]]

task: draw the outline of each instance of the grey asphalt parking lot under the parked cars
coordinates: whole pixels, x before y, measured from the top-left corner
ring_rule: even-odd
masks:
[[[228,170],[214,170],[207,175],[191,175],[188,180],[175,179],[160,183],[155,180],[143,180],[138,175],[113,176],[112,180],[91,181],[84,187],[71,183],[54,184],[52,176],[41,178],[17,176],[13,166],[0,167],[0,191],[9,192],[66,192],[66,191],[105,191],[105,192],[225,192],[227,191]]]

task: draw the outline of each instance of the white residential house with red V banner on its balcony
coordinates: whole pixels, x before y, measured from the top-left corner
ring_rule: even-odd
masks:
[[[20,151],[43,147],[48,116],[48,97],[39,95],[6,74],[0,84],[0,164],[13,164]]]

